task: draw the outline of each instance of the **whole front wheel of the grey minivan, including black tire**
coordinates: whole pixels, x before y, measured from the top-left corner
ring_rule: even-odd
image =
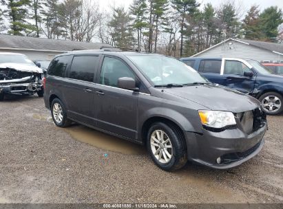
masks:
[[[163,143],[160,143],[158,146],[158,134],[162,138],[162,131],[163,131]],[[151,136],[155,136],[156,140],[151,140]],[[169,139],[169,142],[165,143]],[[162,140],[160,140],[162,141]],[[152,144],[154,142],[154,144]],[[171,149],[169,148],[171,144]],[[163,147],[162,147],[163,146]],[[163,153],[156,154],[158,152],[158,148],[161,147]],[[171,154],[171,158],[169,155]],[[185,139],[180,133],[179,129],[176,128],[174,124],[165,124],[163,122],[156,122],[152,124],[148,133],[147,133],[147,151],[151,156],[151,159],[154,163],[161,169],[171,171],[177,170],[185,166],[187,163],[187,146],[185,144]],[[160,157],[161,155],[161,157]],[[165,157],[166,156],[166,157]],[[160,157],[160,159],[158,158]],[[167,158],[167,160],[166,160]]]

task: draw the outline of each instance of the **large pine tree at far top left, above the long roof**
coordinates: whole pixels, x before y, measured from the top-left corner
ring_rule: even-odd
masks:
[[[30,35],[36,30],[34,26],[27,22],[30,18],[28,8],[31,5],[30,0],[1,0],[7,9],[4,14],[10,20],[9,34],[13,35]]]

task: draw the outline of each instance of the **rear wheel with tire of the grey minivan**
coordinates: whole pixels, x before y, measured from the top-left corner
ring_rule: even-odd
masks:
[[[65,106],[63,102],[59,100],[59,98],[54,98],[54,100],[52,100],[51,115],[56,126],[65,128],[67,126],[70,126],[70,124],[72,124],[72,121],[67,118],[67,111],[65,109]]]

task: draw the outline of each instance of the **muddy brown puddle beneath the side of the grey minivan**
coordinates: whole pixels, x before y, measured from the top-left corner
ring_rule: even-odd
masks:
[[[64,130],[69,133],[74,140],[78,140],[107,151],[114,151],[116,153],[128,155],[139,155],[146,153],[144,146],[122,140],[112,135],[107,135],[101,131],[90,129],[87,126],[70,126]]]

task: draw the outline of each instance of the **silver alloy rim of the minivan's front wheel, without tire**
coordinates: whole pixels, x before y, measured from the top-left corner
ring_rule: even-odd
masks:
[[[151,151],[154,157],[158,159],[158,162],[165,164],[171,160],[173,153],[172,144],[165,131],[156,130],[151,133],[150,144]]]

